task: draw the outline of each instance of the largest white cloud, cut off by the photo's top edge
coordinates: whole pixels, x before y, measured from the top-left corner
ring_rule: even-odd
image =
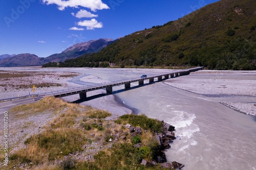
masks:
[[[96,10],[110,9],[108,5],[102,3],[101,0],[42,0],[42,2],[46,3],[47,5],[56,4],[58,6],[58,9],[61,11],[67,7],[78,8],[79,6],[89,8],[94,12]]]

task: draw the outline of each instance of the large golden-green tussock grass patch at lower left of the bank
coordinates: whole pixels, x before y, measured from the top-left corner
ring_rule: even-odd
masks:
[[[70,153],[82,151],[82,145],[86,141],[82,131],[78,129],[47,129],[28,138],[25,141],[27,148],[13,154],[10,160],[39,164],[60,159]]]

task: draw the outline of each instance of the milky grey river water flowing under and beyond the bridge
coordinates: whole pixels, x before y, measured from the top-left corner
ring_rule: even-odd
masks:
[[[147,75],[157,72],[147,72]],[[92,69],[87,75],[103,80],[138,77],[138,71]],[[72,82],[84,84],[78,79]],[[113,87],[121,104],[136,113],[163,119],[176,127],[177,139],[166,152],[168,161],[190,169],[256,169],[256,122],[254,116],[230,109],[220,102],[254,102],[255,97],[201,95],[171,87],[164,82],[146,84],[131,90]]]

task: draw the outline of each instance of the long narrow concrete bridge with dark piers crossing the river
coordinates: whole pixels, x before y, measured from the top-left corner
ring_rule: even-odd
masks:
[[[109,83],[91,85],[91,86],[81,86],[81,87],[76,87],[76,88],[72,88],[72,89],[49,91],[49,92],[34,94],[34,96],[41,97],[41,98],[44,96],[55,96],[56,98],[59,98],[59,97],[64,97],[64,96],[68,96],[68,95],[79,94],[80,99],[83,101],[86,101],[88,91],[105,88],[106,93],[112,94],[114,86],[119,86],[119,85],[124,84],[124,88],[129,89],[129,88],[131,88],[131,83],[133,83],[133,82],[138,82],[139,85],[143,85],[144,81],[147,79],[149,79],[149,83],[153,83],[155,78],[157,78],[158,81],[162,81],[162,80],[166,80],[169,78],[175,78],[175,77],[179,77],[179,76],[189,75],[190,72],[202,70],[203,68],[204,67],[189,68],[189,69],[183,69],[183,70],[176,70],[176,71],[172,71],[169,73],[151,75],[151,76],[143,77],[143,78],[133,78],[133,79],[126,79],[126,80],[114,81],[114,82],[109,82]],[[32,95],[26,95],[26,96],[20,96],[18,98],[3,99],[3,100],[0,100],[0,102],[24,99],[24,98],[29,98],[31,96]]]

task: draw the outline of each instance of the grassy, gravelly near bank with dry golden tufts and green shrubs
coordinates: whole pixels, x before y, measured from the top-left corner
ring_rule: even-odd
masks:
[[[25,148],[11,152],[7,169],[163,169],[140,164],[155,156],[158,143],[153,132],[160,132],[158,120],[145,115],[105,120],[111,113],[53,97],[9,112],[23,119],[46,111],[55,117],[25,140]],[[132,134],[126,124],[141,127],[142,132]],[[140,147],[135,147],[138,143]]]

